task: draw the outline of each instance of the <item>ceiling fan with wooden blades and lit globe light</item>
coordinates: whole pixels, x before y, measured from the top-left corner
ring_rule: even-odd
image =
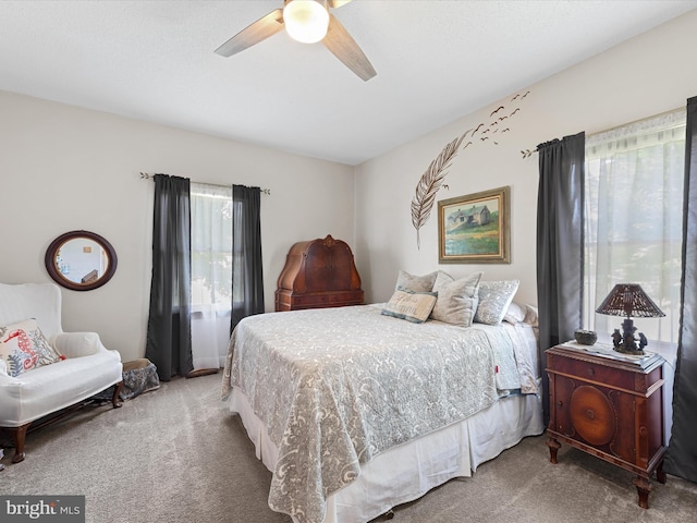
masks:
[[[321,40],[344,65],[367,82],[377,74],[375,69],[358,44],[329,12],[330,8],[337,9],[350,1],[284,0],[283,9],[276,9],[248,25],[216,49],[216,52],[223,57],[231,57],[285,27],[291,38],[297,41],[315,44]]]

